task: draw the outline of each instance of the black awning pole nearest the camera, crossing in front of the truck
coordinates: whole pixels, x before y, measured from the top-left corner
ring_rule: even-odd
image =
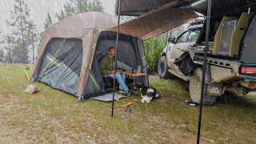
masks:
[[[210,35],[210,17],[211,17],[211,4],[212,0],[208,0],[208,10],[207,10],[207,19],[206,19],[206,42],[205,42],[205,51],[204,51],[204,59],[203,59],[203,70],[202,70],[202,90],[201,90],[201,100],[200,100],[200,109],[199,109],[199,118],[198,118],[198,139],[197,144],[200,143],[200,132],[201,132],[201,124],[202,124],[202,100],[205,95],[205,84],[206,84],[206,65],[207,65],[207,52],[208,52],[208,42]]]

